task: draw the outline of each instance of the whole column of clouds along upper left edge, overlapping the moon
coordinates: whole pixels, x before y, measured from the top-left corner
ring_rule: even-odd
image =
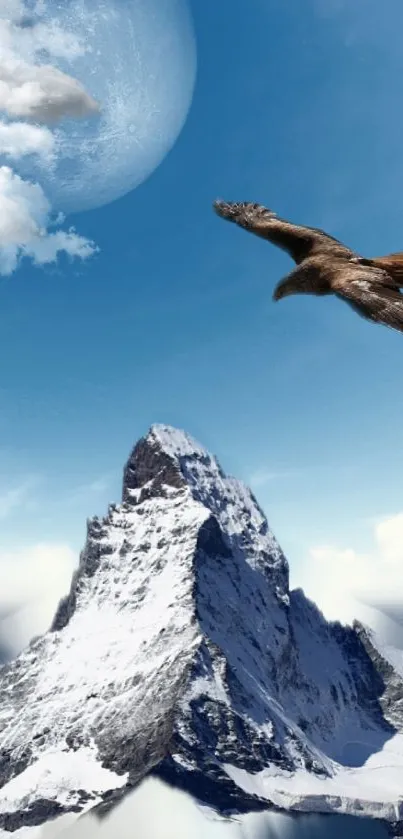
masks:
[[[14,165],[34,154],[51,166],[60,150],[52,126],[66,117],[80,119],[99,111],[77,79],[49,62],[40,63],[44,50],[56,60],[74,58],[86,49],[56,21],[44,22],[41,8],[40,2],[28,10],[22,0],[0,0],[0,155]],[[39,183],[23,179],[18,169],[0,166],[1,274],[11,274],[23,257],[44,265],[62,252],[87,259],[97,251],[73,228],[50,230],[62,221],[52,217]]]

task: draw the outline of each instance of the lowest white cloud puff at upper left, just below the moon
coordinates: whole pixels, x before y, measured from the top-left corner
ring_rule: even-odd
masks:
[[[94,243],[73,229],[49,232],[51,207],[42,187],[20,178],[10,167],[0,167],[0,273],[11,274],[23,256],[38,265],[57,259],[60,252],[86,259]]]

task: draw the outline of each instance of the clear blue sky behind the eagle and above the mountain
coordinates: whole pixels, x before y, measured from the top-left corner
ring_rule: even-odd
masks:
[[[0,280],[2,550],[78,551],[134,442],[185,428],[252,482],[293,567],[367,550],[403,507],[402,336],[211,211],[261,201],[368,254],[403,250],[400,0],[191,3],[198,70],[172,151],[69,219],[99,254]]]

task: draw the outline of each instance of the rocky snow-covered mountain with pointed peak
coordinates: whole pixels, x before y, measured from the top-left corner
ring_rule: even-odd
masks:
[[[159,425],[50,631],[0,669],[0,827],[101,815],[150,773],[221,813],[403,835],[403,654],[290,592],[251,492]]]

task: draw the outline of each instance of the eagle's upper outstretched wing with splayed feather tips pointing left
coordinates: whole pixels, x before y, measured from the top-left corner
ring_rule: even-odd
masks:
[[[272,210],[261,204],[215,201],[214,209],[221,218],[233,221],[287,251],[297,264],[324,250],[337,252],[347,258],[354,256],[353,251],[324,230],[292,224],[278,218]]]

